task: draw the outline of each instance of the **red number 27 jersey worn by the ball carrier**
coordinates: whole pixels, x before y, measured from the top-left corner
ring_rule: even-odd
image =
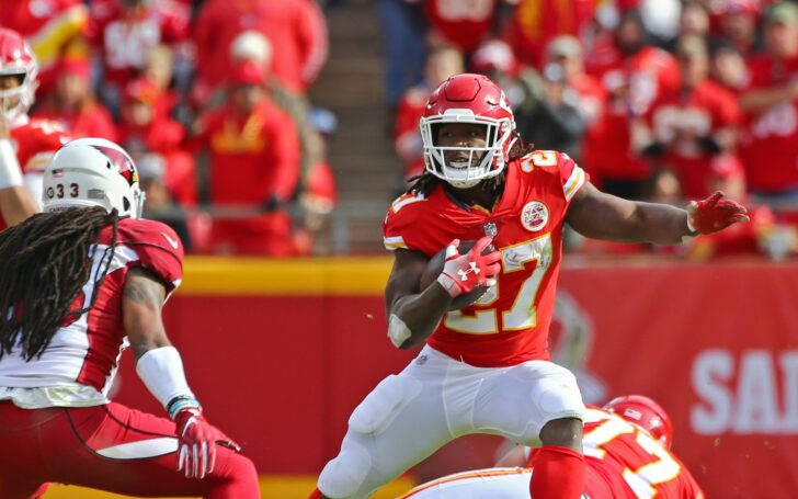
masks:
[[[432,257],[453,239],[495,233],[502,253],[497,285],[461,310],[444,315],[428,343],[453,359],[482,367],[548,360],[562,254],[562,224],[586,177],[571,158],[534,151],[510,162],[504,193],[492,212],[453,201],[443,186],[429,196],[409,193],[388,209],[385,246]]]

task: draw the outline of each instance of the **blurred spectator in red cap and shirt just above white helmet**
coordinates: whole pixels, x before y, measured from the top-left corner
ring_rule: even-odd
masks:
[[[160,156],[170,195],[183,206],[193,206],[197,201],[194,157],[182,146],[183,126],[160,112],[161,97],[160,89],[146,78],[125,86],[119,144],[134,159]]]

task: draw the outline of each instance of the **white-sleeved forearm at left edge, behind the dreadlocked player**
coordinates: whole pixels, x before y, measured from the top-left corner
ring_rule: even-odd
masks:
[[[23,185],[22,169],[11,145],[8,121],[0,116],[0,213],[10,227],[38,212],[38,203]]]

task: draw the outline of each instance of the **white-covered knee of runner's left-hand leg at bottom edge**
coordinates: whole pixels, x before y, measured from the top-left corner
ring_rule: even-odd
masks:
[[[331,499],[347,498],[361,488],[371,468],[368,451],[357,442],[344,440],[341,453],[319,475],[319,491]]]

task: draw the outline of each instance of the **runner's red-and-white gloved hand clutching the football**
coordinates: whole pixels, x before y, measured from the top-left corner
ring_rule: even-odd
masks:
[[[455,239],[446,247],[446,260],[437,282],[453,298],[464,293],[470,293],[477,286],[494,284],[495,274],[501,269],[499,264],[501,253],[491,250],[488,254],[482,254],[491,241],[492,239],[489,237],[479,239],[466,254],[460,254],[457,249],[460,245],[459,239]]]

